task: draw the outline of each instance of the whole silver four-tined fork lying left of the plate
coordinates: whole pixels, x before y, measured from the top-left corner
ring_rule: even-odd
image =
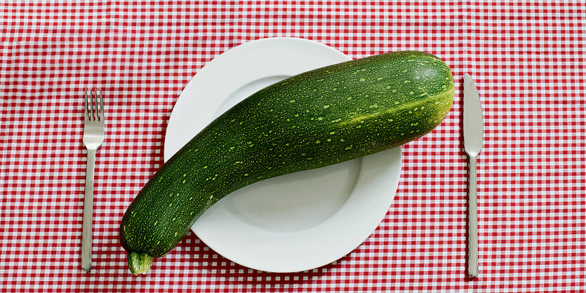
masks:
[[[98,95],[99,91],[99,95]],[[99,102],[99,104],[98,104]],[[88,149],[86,166],[86,195],[84,196],[84,224],[81,232],[81,269],[91,270],[91,222],[93,214],[93,169],[95,151],[104,142],[104,101],[102,90],[85,90],[84,146]]]

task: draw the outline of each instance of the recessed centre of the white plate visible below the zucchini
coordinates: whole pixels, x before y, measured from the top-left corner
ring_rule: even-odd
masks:
[[[358,158],[266,179],[234,191],[225,198],[225,208],[256,229],[279,233],[310,229],[346,203],[360,168]]]

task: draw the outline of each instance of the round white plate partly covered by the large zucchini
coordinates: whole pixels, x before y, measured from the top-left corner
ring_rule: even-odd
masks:
[[[165,161],[208,123],[255,91],[350,60],[314,41],[270,38],[222,53],[189,81],[173,108]],[[401,148],[234,191],[192,230],[211,249],[261,271],[305,271],[354,250],[385,217],[399,182]]]

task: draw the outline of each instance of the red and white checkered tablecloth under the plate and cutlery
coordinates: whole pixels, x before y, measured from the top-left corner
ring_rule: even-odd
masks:
[[[38,2],[38,3],[35,3]],[[0,4],[1,292],[457,292],[586,290],[583,1],[17,1]],[[267,273],[188,233],[147,275],[128,272],[122,214],[161,165],[189,79],[254,39],[294,36],[359,58],[434,53],[453,109],[404,146],[378,229],[333,264]],[[465,277],[463,74],[480,90],[480,275]],[[84,88],[104,90],[93,269],[80,269]]]

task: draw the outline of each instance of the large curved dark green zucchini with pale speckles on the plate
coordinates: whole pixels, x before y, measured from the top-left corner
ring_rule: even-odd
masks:
[[[453,95],[448,66],[417,51],[333,64],[259,90],[185,144],[128,207],[119,238],[131,272],[146,273],[232,191],[417,139],[448,114]]]

